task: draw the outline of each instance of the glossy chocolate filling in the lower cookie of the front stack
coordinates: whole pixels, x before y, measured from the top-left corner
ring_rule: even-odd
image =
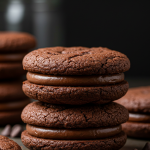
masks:
[[[121,125],[108,128],[93,129],[53,129],[27,124],[26,130],[32,136],[53,140],[89,140],[107,138],[119,134]]]

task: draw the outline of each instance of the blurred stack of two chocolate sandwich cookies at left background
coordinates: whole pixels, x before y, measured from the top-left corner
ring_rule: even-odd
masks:
[[[21,121],[21,111],[30,102],[21,87],[22,59],[35,47],[27,33],[0,32],[0,125]]]

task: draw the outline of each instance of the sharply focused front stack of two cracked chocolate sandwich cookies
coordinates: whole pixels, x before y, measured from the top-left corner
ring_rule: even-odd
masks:
[[[21,115],[27,148],[115,150],[125,144],[121,124],[128,111],[112,102],[129,87],[124,54],[103,47],[43,48],[27,54],[23,67],[28,71],[23,91],[39,100]]]

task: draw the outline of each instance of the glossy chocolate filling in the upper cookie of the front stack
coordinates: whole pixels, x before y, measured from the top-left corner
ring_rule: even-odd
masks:
[[[27,79],[31,83],[49,86],[98,86],[122,82],[124,73],[101,76],[54,76],[28,72]]]

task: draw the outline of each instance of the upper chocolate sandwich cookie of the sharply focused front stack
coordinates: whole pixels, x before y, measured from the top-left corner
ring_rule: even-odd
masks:
[[[24,93],[51,104],[104,104],[128,90],[126,55],[108,48],[52,47],[30,52],[23,59],[28,71]]]

